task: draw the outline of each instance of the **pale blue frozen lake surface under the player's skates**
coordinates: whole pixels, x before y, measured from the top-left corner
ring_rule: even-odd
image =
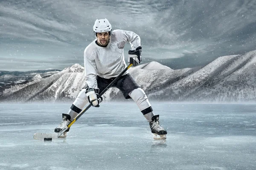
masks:
[[[66,139],[33,139],[71,104],[0,104],[0,170],[256,170],[256,105],[151,102],[157,142],[134,102],[103,102]]]

